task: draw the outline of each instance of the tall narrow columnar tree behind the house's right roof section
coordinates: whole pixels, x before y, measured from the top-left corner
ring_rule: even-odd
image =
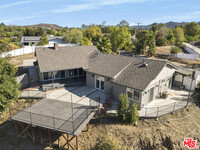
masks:
[[[149,32],[149,38],[148,38],[148,45],[149,45],[149,50],[148,50],[148,55],[153,56],[156,54],[156,45],[155,45],[155,35],[153,34],[152,31]]]

